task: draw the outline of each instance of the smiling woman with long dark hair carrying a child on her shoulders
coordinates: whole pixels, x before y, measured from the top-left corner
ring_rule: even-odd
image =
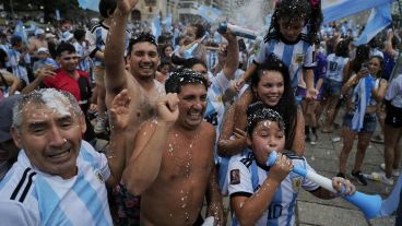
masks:
[[[244,98],[245,97],[245,98]],[[251,103],[243,100],[250,99]],[[218,142],[218,152],[223,156],[232,156],[246,146],[247,107],[261,100],[267,107],[276,110],[286,123],[285,148],[297,155],[304,153],[304,120],[297,110],[295,96],[291,86],[287,67],[275,55],[271,53],[267,61],[257,68],[251,76],[251,88],[248,88],[235,106],[235,112],[227,114]],[[234,139],[230,139],[234,138]]]

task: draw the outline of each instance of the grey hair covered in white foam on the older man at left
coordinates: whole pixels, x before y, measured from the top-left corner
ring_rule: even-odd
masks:
[[[58,100],[58,102],[57,102]],[[83,112],[80,108],[79,103],[75,97],[66,91],[57,91],[55,88],[40,88],[35,90],[28,94],[24,94],[14,105],[13,107],[13,118],[12,118],[12,127],[21,130],[22,126],[22,115],[25,111],[24,107],[29,104],[34,104],[35,106],[42,105],[50,105],[51,108],[56,108],[57,104],[63,103],[64,105],[70,104],[69,109],[73,110],[74,116],[83,116]],[[59,108],[57,108],[60,110]]]

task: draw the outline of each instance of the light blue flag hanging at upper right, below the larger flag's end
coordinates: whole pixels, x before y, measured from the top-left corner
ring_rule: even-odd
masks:
[[[390,25],[391,17],[391,4],[383,4],[381,7],[371,10],[370,16],[367,20],[366,27],[360,36],[354,41],[355,46],[367,44],[379,32]]]

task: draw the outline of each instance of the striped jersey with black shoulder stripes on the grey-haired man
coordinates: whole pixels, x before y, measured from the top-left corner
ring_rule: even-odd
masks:
[[[70,179],[44,174],[24,151],[0,182],[4,225],[113,225],[105,180],[105,155],[82,141],[78,175]]]

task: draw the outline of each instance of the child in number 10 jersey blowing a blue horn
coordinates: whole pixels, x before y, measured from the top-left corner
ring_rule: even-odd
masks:
[[[336,194],[317,183],[291,173],[293,166],[314,170],[306,158],[285,151],[285,123],[280,114],[261,102],[247,110],[247,142],[250,148],[229,163],[229,195],[234,225],[295,225],[295,204],[299,188],[321,199]],[[273,166],[268,156],[276,151]],[[332,179],[333,188],[343,194],[355,192],[355,187],[343,178]]]

